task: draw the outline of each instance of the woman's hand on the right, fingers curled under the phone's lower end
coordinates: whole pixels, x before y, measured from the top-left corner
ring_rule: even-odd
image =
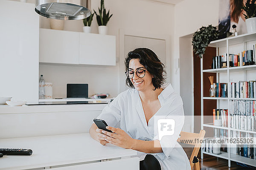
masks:
[[[119,147],[123,147],[125,149],[131,149],[134,143],[134,139],[132,139],[124,130],[107,126],[108,130],[111,130],[111,132],[107,132],[105,130],[102,130],[102,133],[105,134],[105,140],[111,144],[114,144]]]

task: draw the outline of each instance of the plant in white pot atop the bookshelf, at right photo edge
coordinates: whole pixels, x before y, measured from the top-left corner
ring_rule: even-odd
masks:
[[[251,1],[251,3],[250,3]],[[242,9],[246,12],[245,23],[248,33],[256,32],[256,0],[247,0]]]

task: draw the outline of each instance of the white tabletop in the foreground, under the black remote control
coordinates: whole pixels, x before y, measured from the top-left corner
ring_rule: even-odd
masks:
[[[113,144],[103,146],[89,133],[0,139],[0,146],[33,150],[31,156],[3,156],[0,158],[0,170],[50,167],[137,155],[136,150]]]

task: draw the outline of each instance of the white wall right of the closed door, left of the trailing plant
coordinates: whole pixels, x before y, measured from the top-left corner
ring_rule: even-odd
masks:
[[[175,6],[174,46],[172,53],[172,74],[174,87],[183,99],[185,125],[183,130],[193,132],[193,53],[192,34],[202,26],[218,26],[219,0],[183,0]],[[177,59],[180,59],[178,68]],[[189,129],[190,127],[190,129]],[[197,132],[198,133],[198,132]]]

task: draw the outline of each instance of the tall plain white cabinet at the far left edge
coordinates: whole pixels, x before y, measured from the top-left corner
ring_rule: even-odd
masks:
[[[37,102],[39,15],[32,3],[0,0],[0,7],[0,96]]]

